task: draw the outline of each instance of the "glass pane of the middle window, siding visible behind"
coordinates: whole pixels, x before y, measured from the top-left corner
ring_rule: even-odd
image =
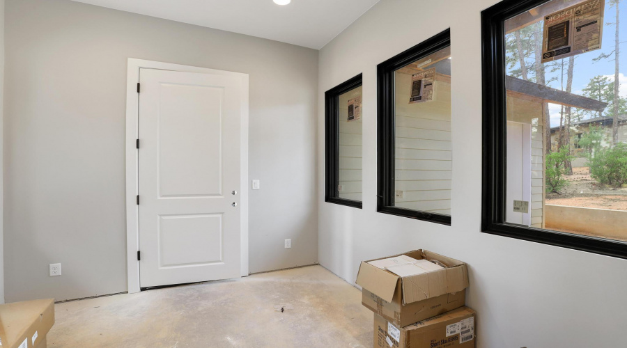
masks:
[[[451,53],[394,72],[394,206],[451,214]]]

